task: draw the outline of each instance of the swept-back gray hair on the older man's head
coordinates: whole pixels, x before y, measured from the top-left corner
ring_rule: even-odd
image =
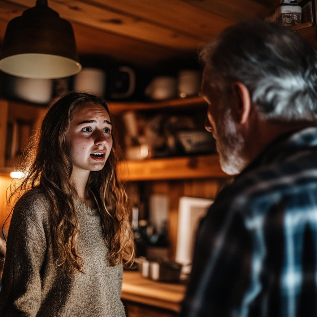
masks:
[[[317,52],[280,24],[254,21],[225,29],[200,51],[207,80],[249,90],[265,119],[317,119]]]

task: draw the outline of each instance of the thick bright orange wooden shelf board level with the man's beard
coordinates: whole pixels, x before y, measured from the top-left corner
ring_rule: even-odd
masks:
[[[228,177],[216,154],[121,162],[118,175],[126,181]]]

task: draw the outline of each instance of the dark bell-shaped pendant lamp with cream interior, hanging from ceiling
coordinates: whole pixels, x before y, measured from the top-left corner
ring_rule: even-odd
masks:
[[[24,78],[54,79],[81,71],[71,24],[47,0],[12,19],[5,31],[0,70]]]

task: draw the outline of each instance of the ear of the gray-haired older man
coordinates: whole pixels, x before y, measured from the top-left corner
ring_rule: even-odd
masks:
[[[232,93],[236,102],[233,103],[239,123],[244,124],[248,120],[251,111],[251,98],[248,88],[239,81],[231,84]]]

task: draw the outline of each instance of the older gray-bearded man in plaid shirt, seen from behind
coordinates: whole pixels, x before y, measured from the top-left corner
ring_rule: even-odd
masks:
[[[200,223],[181,316],[317,316],[317,53],[250,22],[201,57],[206,129],[239,175]]]

